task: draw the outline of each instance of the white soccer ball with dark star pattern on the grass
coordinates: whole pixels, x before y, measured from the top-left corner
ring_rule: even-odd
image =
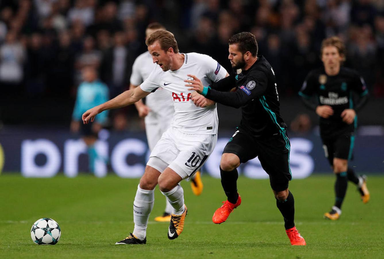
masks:
[[[54,245],[61,236],[59,224],[49,218],[38,219],[31,228],[31,238],[38,245]]]

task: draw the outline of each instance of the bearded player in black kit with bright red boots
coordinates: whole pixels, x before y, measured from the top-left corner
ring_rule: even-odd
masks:
[[[210,86],[203,86],[194,75],[188,75],[194,80],[185,80],[189,83],[186,86],[192,87],[189,90],[195,90],[207,99],[235,108],[242,107],[240,125],[225,146],[220,162],[221,182],[227,201],[215,211],[212,221],[216,224],[226,221],[233,209],[241,204],[237,192],[237,167],[258,156],[269,175],[291,244],[303,246],[306,242],[296,230],[294,199],[288,190],[292,178],[290,142],[286,124],[280,116],[275,72],[263,56],[257,56],[257,52],[256,38],[252,33],[235,34],[229,39],[228,59],[234,71],[242,70],[240,73],[234,72]],[[204,106],[204,100],[192,100],[196,105]]]

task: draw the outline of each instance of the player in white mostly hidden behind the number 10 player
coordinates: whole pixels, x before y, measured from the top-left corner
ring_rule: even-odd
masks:
[[[160,23],[151,23],[146,29],[146,38],[157,30],[166,30]],[[132,74],[129,89],[138,87],[151,74],[156,67],[153,63],[151,54],[147,51],[139,55],[132,66]],[[175,109],[173,108],[172,96],[163,88],[157,89],[153,94],[146,97],[146,104],[139,100],[135,103],[139,117],[145,117],[145,128],[149,150],[153,150],[161,135],[169,128]],[[191,188],[195,195],[200,195],[203,184],[200,172],[191,179]],[[173,211],[172,205],[166,201],[166,208],[162,216],[155,217],[155,221],[167,222]]]

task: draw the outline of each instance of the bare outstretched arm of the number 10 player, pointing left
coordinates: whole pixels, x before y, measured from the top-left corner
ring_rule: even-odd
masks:
[[[125,107],[130,104],[134,104],[138,100],[149,95],[149,92],[145,92],[141,90],[140,87],[136,87],[135,89],[130,89],[125,92],[122,92],[115,98],[109,100],[108,102],[104,102],[104,104],[97,105],[86,112],[83,113],[81,119],[84,124],[88,124],[89,121],[93,122],[95,116],[104,110],[111,110],[116,108]]]

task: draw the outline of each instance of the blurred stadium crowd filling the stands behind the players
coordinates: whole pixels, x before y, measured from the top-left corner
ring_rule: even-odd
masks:
[[[321,40],[338,35],[347,45],[346,66],[358,70],[373,96],[384,96],[382,0],[5,0],[2,99],[73,102],[80,71],[89,65],[116,96],[129,85],[134,59],[146,51],[150,22],[174,32],[182,52],[206,53],[228,71],[228,38],[252,32],[285,96],[296,96],[305,75],[321,65]]]

